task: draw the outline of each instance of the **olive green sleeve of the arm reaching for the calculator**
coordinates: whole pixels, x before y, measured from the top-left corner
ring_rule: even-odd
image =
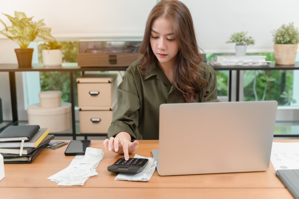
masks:
[[[127,70],[123,81],[118,86],[118,109],[108,129],[108,138],[125,131],[131,135],[132,139],[136,139],[135,132],[138,127],[139,109],[140,100],[134,76]]]

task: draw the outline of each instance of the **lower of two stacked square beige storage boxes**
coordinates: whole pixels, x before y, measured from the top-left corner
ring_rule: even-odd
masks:
[[[107,133],[116,108],[80,110],[80,133]]]

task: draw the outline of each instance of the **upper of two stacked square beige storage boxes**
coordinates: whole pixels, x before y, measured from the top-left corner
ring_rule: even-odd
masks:
[[[113,107],[117,100],[117,74],[86,74],[77,78],[78,107],[84,110],[102,110]]]

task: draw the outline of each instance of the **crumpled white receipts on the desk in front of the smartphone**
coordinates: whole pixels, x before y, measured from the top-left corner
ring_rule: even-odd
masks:
[[[95,171],[103,159],[102,149],[86,148],[85,155],[76,155],[70,165],[48,179],[62,186],[83,186],[89,177],[98,175]]]

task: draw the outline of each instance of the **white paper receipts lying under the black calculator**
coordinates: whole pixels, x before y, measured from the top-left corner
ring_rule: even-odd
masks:
[[[135,155],[134,158],[146,158],[140,155]],[[145,168],[139,173],[119,173],[114,180],[128,180],[128,181],[149,181],[152,174],[155,172],[157,161],[154,158],[149,159]]]

